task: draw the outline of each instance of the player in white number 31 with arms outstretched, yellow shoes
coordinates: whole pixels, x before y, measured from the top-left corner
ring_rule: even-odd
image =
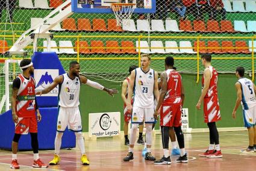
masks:
[[[49,87],[46,87],[42,92],[37,92],[37,95],[42,95],[51,92],[57,85],[59,85],[58,95],[58,119],[57,119],[57,133],[55,137],[55,155],[54,159],[50,161],[50,165],[58,164],[60,161],[60,146],[61,137],[66,127],[70,131],[75,132],[76,142],[81,151],[81,163],[89,165],[87,160],[86,150],[84,148],[84,139],[82,135],[82,122],[79,110],[79,95],[81,83],[90,85],[99,90],[104,90],[109,95],[113,96],[118,93],[115,89],[107,89],[98,82],[90,81],[86,76],[80,75],[80,64],[72,61],[69,64],[69,72],[57,76]]]

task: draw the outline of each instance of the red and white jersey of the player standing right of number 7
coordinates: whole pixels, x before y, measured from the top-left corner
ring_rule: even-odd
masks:
[[[213,66],[208,66],[206,69],[209,69],[211,72],[211,79],[208,92],[204,96],[204,98],[209,98],[211,96],[217,95],[217,81],[218,81],[218,73]],[[205,69],[205,70],[206,70]],[[202,88],[204,87],[204,76],[202,77]]]

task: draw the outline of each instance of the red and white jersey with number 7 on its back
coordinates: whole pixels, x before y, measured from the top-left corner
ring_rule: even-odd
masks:
[[[180,104],[181,99],[181,75],[173,69],[165,71],[167,73],[167,92],[163,105]]]

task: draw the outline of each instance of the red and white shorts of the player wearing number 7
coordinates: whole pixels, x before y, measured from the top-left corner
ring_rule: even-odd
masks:
[[[160,126],[181,126],[181,104],[161,105]]]

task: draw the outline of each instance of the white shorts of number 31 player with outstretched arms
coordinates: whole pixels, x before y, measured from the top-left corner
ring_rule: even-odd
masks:
[[[82,131],[82,120],[79,107],[58,108],[57,131],[64,132],[66,127],[69,131]]]

